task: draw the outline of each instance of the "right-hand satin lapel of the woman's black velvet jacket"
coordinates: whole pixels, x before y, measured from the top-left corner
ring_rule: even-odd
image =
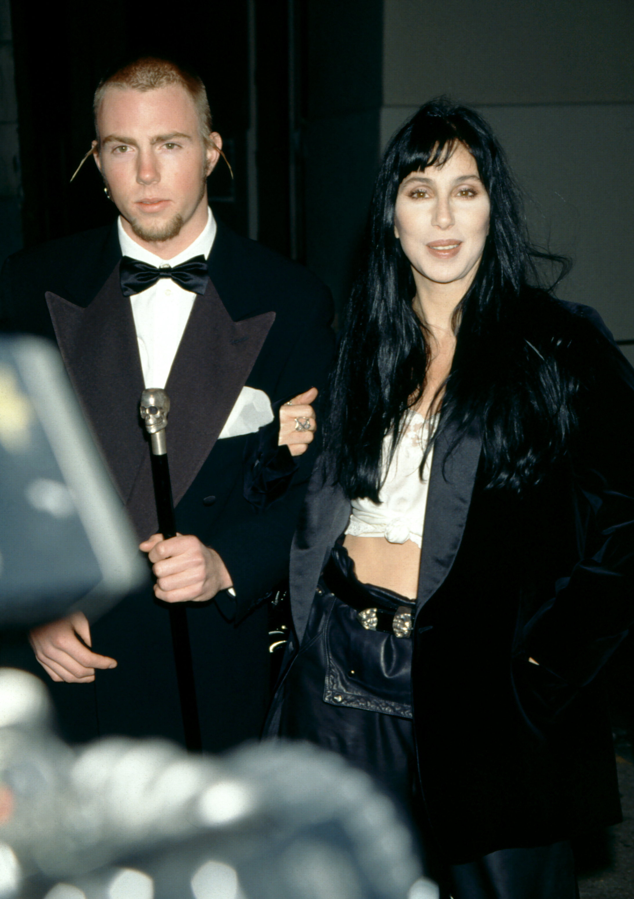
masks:
[[[481,441],[474,427],[462,436],[445,461],[452,439],[453,432],[439,434],[434,447],[420,554],[418,610],[451,571],[462,541],[480,459]]]

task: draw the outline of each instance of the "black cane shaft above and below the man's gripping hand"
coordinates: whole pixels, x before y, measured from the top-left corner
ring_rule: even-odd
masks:
[[[152,477],[154,480],[154,499],[158,514],[159,530],[163,539],[176,537],[176,516],[172,500],[172,482],[167,453],[154,456],[152,459]],[[196,703],[196,684],[194,682],[194,666],[191,661],[189,644],[189,628],[187,626],[187,610],[182,605],[170,606],[170,628],[172,630],[172,649],[176,666],[176,680],[181,699],[182,725],[185,732],[185,745],[189,752],[200,752],[202,740],[198,721]]]

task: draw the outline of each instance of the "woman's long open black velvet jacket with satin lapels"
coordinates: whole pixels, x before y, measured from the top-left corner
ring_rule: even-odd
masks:
[[[577,438],[541,484],[489,488],[475,425],[453,451],[452,430],[436,441],[411,683],[423,799],[454,864],[620,820],[600,670],[634,619],[634,372],[597,318],[568,307],[573,367],[587,389]],[[558,343],[550,324],[527,335],[536,352]],[[349,498],[316,467],[291,556],[295,647],[349,514]],[[330,664],[339,649],[329,651],[328,628]],[[330,664],[339,704],[363,708],[364,652],[357,657],[353,635],[349,657],[336,672]],[[375,704],[375,684],[366,686]],[[314,689],[337,704],[323,679]]]

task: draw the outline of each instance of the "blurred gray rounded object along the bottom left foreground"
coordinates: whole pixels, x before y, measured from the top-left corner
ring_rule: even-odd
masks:
[[[0,670],[3,899],[437,897],[392,803],[333,753],[271,742],[212,758],[127,738],[73,750],[48,706],[41,681]]]

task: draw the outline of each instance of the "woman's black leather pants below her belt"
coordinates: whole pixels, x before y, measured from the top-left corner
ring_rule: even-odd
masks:
[[[342,547],[335,548],[333,558],[356,596],[365,591],[368,608],[391,610],[402,600],[359,583]],[[418,833],[424,870],[441,885],[441,899],[577,899],[568,841],[498,850],[463,865],[445,863],[418,781],[411,640],[365,630],[357,610],[324,580],[283,689],[280,735],[339,752],[392,796]]]

